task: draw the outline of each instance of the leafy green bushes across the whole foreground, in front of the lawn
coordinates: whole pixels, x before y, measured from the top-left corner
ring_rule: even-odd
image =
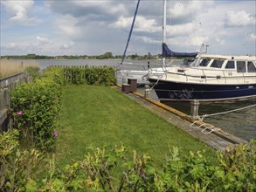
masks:
[[[56,168],[54,155],[36,177],[42,155],[22,151],[16,132],[0,135],[1,188],[9,191],[255,191],[255,144],[218,153],[212,165],[204,152],[179,154],[173,147],[161,167],[127,147],[88,149],[84,160]]]

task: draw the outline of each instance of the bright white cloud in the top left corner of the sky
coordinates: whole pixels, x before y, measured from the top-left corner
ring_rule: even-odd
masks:
[[[29,12],[34,4],[33,0],[23,1],[1,1],[3,7],[9,15],[9,21],[17,24],[35,24],[40,20],[30,17]]]

